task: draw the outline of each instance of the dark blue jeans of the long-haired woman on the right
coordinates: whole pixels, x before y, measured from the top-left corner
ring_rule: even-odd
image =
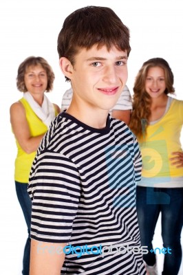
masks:
[[[163,247],[171,248],[172,253],[164,254],[162,274],[177,275],[182,261],[183,188],[137,186],[136,196],[141,244],[149,251],[153,249],[153,234],[161,212]],[[144,254],[143,258],[147,265],[155,264],[154,253]]]

